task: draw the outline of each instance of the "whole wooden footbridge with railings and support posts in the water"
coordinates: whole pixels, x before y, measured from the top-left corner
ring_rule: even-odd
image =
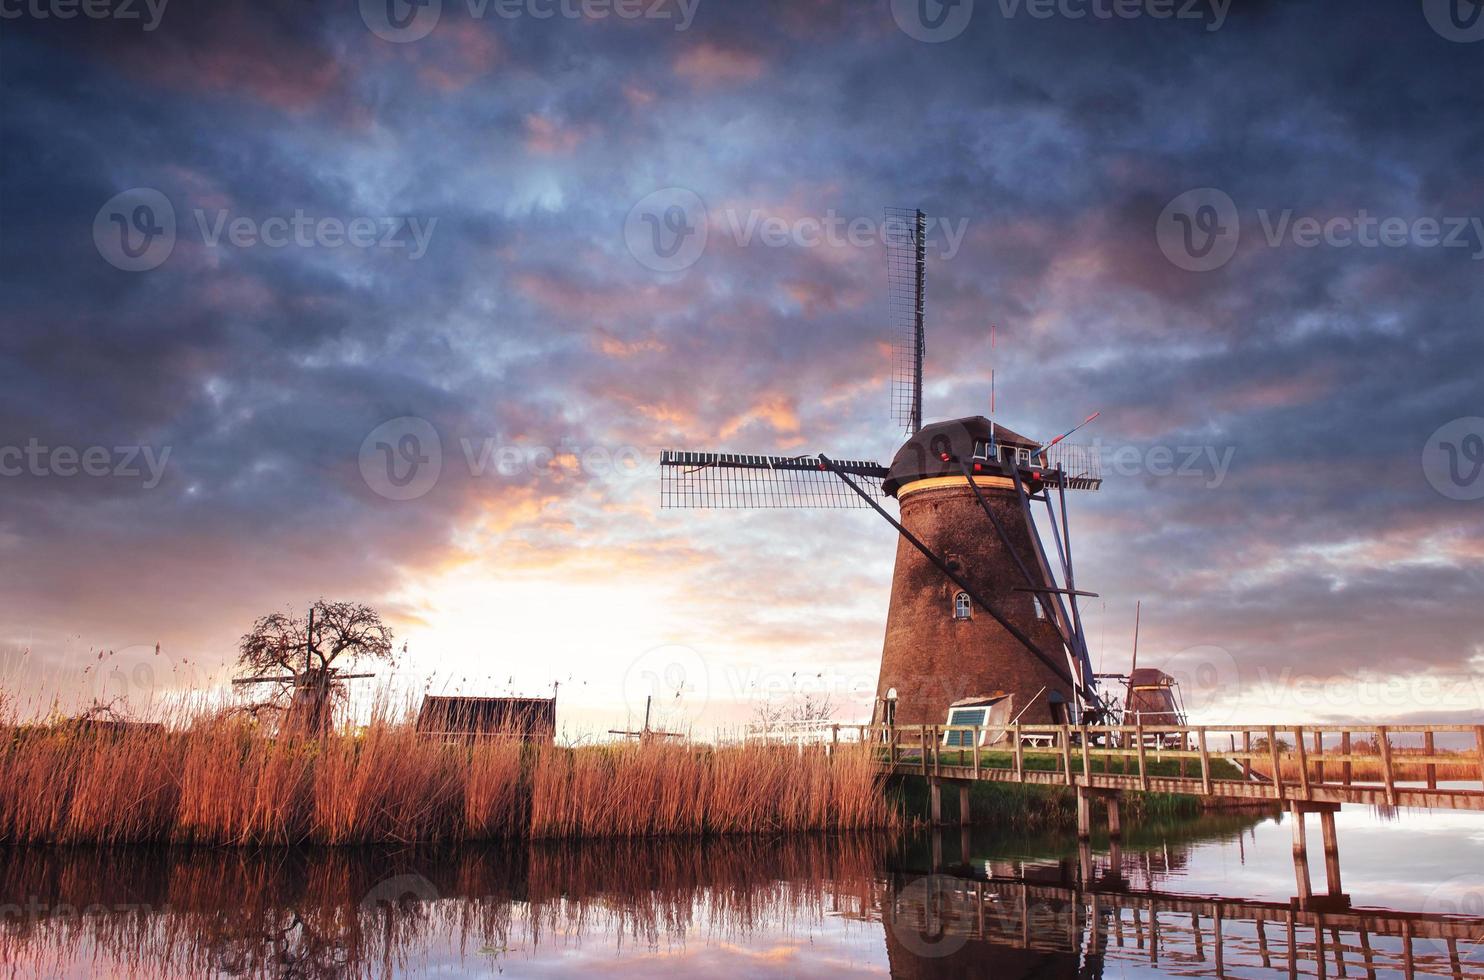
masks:
[[[853,729],[853,731],[852,731]],[[1293,814],[1298,901],[1315,903],[1306,815],[1318,814],[1328,891],[1345,907],[1334,814],[1343,803],[1484,812],[1484,725],[1236,726],[1205,725],[896,725],[833,726],[876,745],[881,768],[929,783],[932,823],[942,790],[959,788],[969,821],[974,783],[1076,790],[1077,836],[1092,836],[1094,800],[1122,836],[1123,793],[1180,793],[1202,800],[1270,802]]]

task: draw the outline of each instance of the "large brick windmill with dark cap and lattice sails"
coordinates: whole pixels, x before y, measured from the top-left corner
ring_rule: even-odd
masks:
[[[942,723],[954,701],[997,690],[1027,723],[1100,717],[1077,609],[1089,592],[1076,591],[1066,500],[1067,490],[1101,486],[1098,457],[1066,437],[1042,444],[982,416],[923,425],[925,236],[922,211],[887,212],[892,414],[908,435],[892,465],[665,451],[660,505],[870,506],[896,529],[874,722]],[[899,520],[883,506],[887,496]]]

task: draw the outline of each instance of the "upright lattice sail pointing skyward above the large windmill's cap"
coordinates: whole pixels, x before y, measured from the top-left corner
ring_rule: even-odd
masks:
[[[886,288],[892,328],[892,420],[907,435],[923,428],[923,298],[928,287],[928,217],[887,208]]]

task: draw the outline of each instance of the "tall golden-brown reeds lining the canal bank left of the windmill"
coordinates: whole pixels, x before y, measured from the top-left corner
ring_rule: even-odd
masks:
[[[865,751],[448,744],[377,720],[276,739],[184,729],[0,729],[0,842],[361,845],[893,827]]]

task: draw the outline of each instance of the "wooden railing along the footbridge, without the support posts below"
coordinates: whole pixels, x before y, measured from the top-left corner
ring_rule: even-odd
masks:
[[[874,744],[886,765],[923,775],[951,769],[957,778],[1143,790],[1178,781],[1178,791],[1273,799],[1365,790],[1393,806],[1419,794],[1484,794],[1484,725],[834,728],[834,741],[847,729],[850,741]]]

